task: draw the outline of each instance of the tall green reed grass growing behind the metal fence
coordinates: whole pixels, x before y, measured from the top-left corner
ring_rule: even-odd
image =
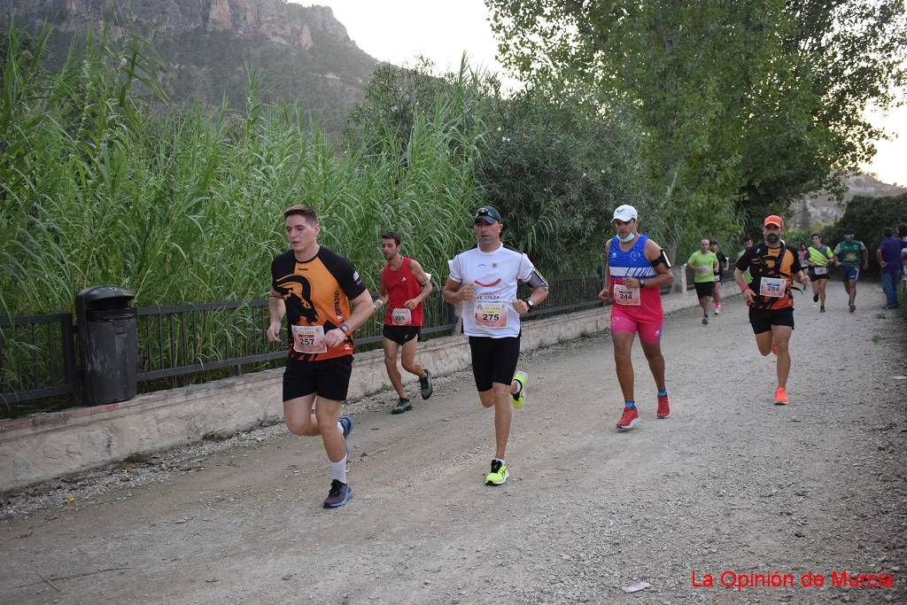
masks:
[[[0,314],[66,311],[102,283],[132,289],[139,305],[262,297],[286,249],[281,212],[297,203],[318,210],[321,242],[366,277],[384,229],[404,233],[435,273],[470,237],[474,153],[451,141],[453,103],[420,118],[402,149],[339,153],[297,107],[258,103],[255,73],[245,116],[160,115],[129,90],[160,93],[149,48],[92,39],[48,73],[47,35],[7,35]]]

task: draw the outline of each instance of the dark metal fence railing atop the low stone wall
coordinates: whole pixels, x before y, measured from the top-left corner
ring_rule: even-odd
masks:
[[[451,334],[457,324],[441,288],[437,286],[424,302],[424,337]],[[600,305],[599,291],[596,276],[552,279],[548,299],[527,319]],[[525,286],[518,292],[520,298],[528,294]],[[136,311],[136,376],[140,385],[147,385],[143,390],[164,388],[160,381],[167,378],[238,375],[243,366],[258,369],[286,356],[283,343],[271,343],[265,337],[267,299],[138,307]],[[383,323],[384,314],[378,312],[357,329],[356,349],[379,346]],[[0,415],[80,405],[76,341],[73,317],[68,314],[0,318]],[[47,397],[57,399],[49,407],[23,405]]]

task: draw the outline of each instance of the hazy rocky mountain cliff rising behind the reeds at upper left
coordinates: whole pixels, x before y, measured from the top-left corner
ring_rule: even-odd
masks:
[[[175,102],[243,109],[244,70],[260,73],[260,100],[299,101],[336,132],[377,62],[350,40],[327,6],[284,0],[0,0],[6,19],[54,24],[63,56],[87,30],[141,33],[169,64],[161,74]]]

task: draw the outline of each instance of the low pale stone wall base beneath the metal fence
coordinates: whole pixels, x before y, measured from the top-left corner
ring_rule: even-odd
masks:
[[[736,296],[726,284],[725,297]],[[662,298],[665,313],[695,307],[686,290]],[[610,311],[595,307],[569,315],[525,322],[522,350],[595,334],[610,328]],[[419,360],[443,376],[470,365],[463,336],[419,346]],[[267,370],[205,385],[139,395],[120,404],[79,407],[0,423],[0,491],[147,453],[198,442],[208,434],[244,431],[283,418],[283,370]],[[404,373],[404,376],[410,376]],[[349,397],[390,388],[384,355],[356,355]]]

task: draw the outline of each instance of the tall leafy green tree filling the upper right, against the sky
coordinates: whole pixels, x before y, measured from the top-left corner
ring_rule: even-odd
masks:
[[[505,65],[633,112],[675,245],[784,213],[869,157],[863,107],[904,81],[900,1],[487,4]]]

